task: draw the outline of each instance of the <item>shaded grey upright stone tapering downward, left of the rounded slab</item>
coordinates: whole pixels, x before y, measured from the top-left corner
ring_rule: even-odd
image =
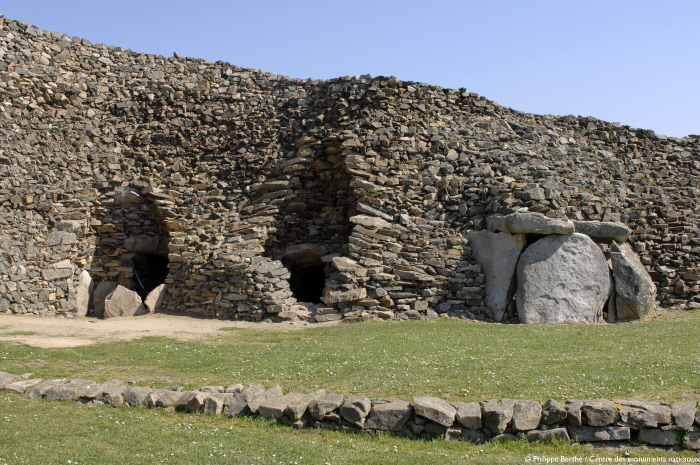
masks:
[[[486,275],[484,303],[493,313],[493,319],[501,321],[515,293],[515,267],[527,245],[525,235],[471,231],[469,242],[476,262]]]

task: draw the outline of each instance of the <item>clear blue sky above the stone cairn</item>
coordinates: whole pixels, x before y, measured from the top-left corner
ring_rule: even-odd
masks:
[[[296,78],[465,87],[539,114],[700,134],[700,1],[8,1],[0,14],[137,52]]]

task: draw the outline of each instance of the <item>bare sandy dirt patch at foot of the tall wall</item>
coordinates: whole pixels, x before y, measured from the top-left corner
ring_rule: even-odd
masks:
[[[327,326],[332,323],[314,323]],[[198,318],[192,315],[151,313],[137,317],[101,318],[40,317],[0,315],[0,341],[14,341],[34,347],[77,347],[98,342],[128,341],[147,336],[179,340],[209,339],[224,328],[288,331],[308,328],[309,323],[252,323]]]

